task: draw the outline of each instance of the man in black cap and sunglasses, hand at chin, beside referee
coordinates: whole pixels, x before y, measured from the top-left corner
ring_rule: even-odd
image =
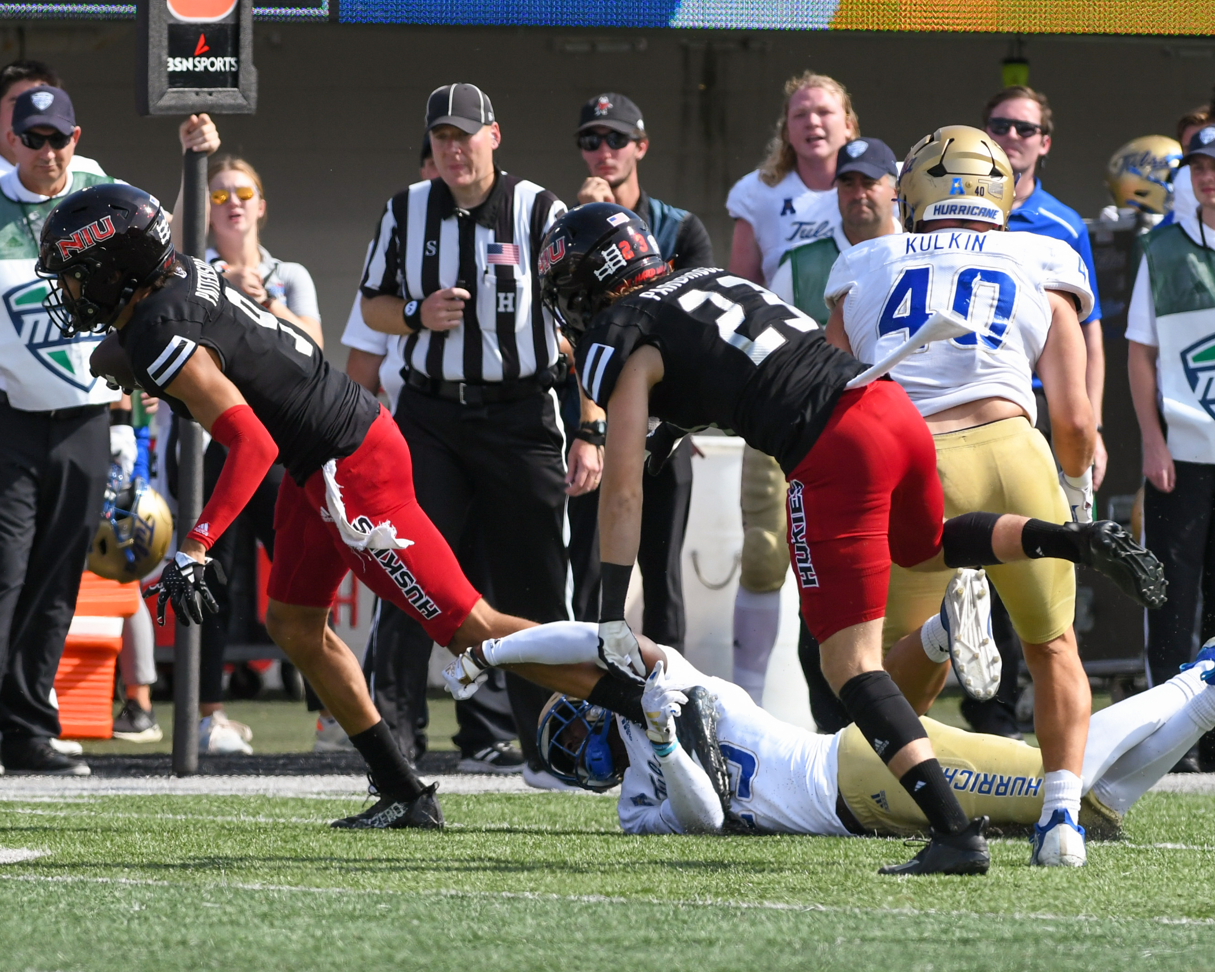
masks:
[[[612,91],[590,98],[578,114],[576,136],[589,173],[578,190],[580,203],[618,203],[632,209],[649,225],[659,249],[676,270],[714,265],[705,224],[694,213],[660,202],[642,188],[637,164],[645,158],[650,139],[642,109],[631,98]],[[577,394],[576,388],[572,391]],[[682,555],[691,507],[691,441],[680,442],[662,470],[645,477],[643,488],[645,516],[637,554],[645,603],[642,629],[648,638],[683,650],[686,620]],[[598,616],[598,549],[595,491],[570,499],[570,561],[580,621]]]

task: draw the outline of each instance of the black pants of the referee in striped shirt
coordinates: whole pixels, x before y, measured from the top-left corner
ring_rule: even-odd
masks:
[[[486,600],[531,621],[567,620],[565,460],[553,396],[469,407],[406,388],[396,422],[409,443],[422,509],[453,549],[465,537],[479,544]],[[430,656],[430,637],[411,618],[399,644],[417,665]],[[552,693],[513,674],[505,685],[520,746],[538,768],[536,724]],[[487,718],[490,699],[479,708],[456,706],[456,744],[465,755],[502,738]]]

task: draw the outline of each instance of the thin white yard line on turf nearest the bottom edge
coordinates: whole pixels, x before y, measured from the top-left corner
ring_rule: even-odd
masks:
[[[899,878],[903,880],[903,878]],[[671,899],[661,898],[629,898],[610,894],[541,894],[527,891],[458,891],[448,888],[436,888],[434,891],[395,891],[390,888],[337,888],[315,887],[310,885],[265,885],[260,882],[185,882],[185,881],[158,881],[140,877],[85,877],[75,875],[40,875],[40,874],[0,874],[0,881],[23,881],[29,883],[52,885],[113,885],[119,887],[147,887],[147,888],[180,888],[191,894],[199,892],[282,892],[287,894],[361,894],[382,895],[395,898],[468,898],[468,899],[499,899],[521,902],[554,902],[563,904],[618,904],[634,908],[638,905],[650,905],[657,908],[713,908],[727,911],[802,911],[823,914],[854,914],[854,915],[905,915],[908,917],[959,917],[982,919],[984,921],[1013,919],[1016,921],[1058,921],[1091,923],[1094,921],[1115,921],[1125,923],[1128,921],[1140,921],[1160,925],[1198,925],[1215,926],[1215,919],[1193,919],[1187,916],[1153,915],[1148,917],[1124,917],[1124,916],[1098,916],[1098,915],[1052,915],[1038,912],[1010,912],[995,911],[950,911],[940,909],[917,908],[854,908],[848,905],[824,905],[824,904],[791,904],[787,902],[731,902],[716,898],[691,898]]]

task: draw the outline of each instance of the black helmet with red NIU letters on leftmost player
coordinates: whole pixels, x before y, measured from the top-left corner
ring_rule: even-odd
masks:
[[[64,337],[103,332],[175,256],[154,196],[122,182],[89,186],[55,207],[43,225],[35,272],[53,282],[43,306]],[[79,284],[78,296],[63,287],[64,278]]]

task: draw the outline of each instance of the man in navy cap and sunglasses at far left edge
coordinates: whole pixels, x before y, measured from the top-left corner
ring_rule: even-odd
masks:
[[[100,335],[64,338],[43,310],[38,234],[58,200],[114,182],[72,165],[80,128],[67,94],[26,87],[0,134],[0,759],[10,770],[87,775],[52,748],[51,689],[109,470],[109,405],[89,373]]]

